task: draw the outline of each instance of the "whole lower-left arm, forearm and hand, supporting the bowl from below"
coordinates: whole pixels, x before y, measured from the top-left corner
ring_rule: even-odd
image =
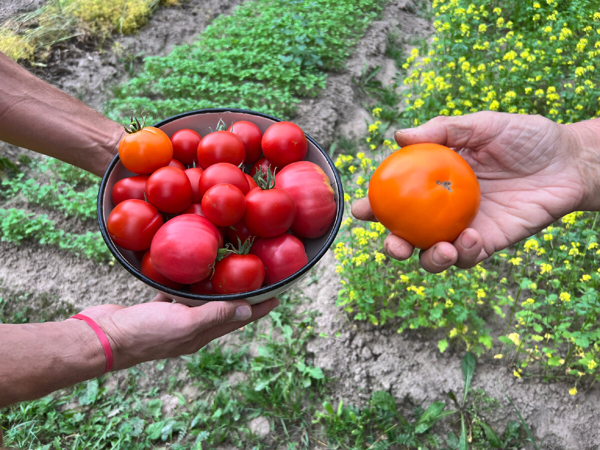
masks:
[[[251,307],[239,300],[190,308],[157,296],[149,303],[99,305],[82,313],[106,334],[113,370],[119,370],[197,352],[277,305],[272,298]],[[106,367],[100,340],[82,320],[0,324],[0,343],[0,409],[100,376]]]

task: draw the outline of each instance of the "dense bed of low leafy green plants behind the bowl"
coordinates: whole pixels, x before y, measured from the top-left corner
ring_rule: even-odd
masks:
[[[188,110],[242,107],[289,117],[301,97],[325,87],[383,2],[250,1],[220,16],[189,46],[146,58],[115,90],[114,119],[131,110],[151,121]],[[355,14],[355,10],[361,14]]]

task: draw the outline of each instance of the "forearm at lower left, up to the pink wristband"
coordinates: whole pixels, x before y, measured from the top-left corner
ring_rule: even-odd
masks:
[[[100,340],[83,320],[0,324],[0,409],[100,376],[105,368]]]

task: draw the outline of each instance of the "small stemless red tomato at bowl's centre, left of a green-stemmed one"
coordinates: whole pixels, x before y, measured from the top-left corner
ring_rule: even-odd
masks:
[[[228,227],[241,220],[245,209],[244,193],[233,184],[215,184],[202,197],[204,215],[220,227]]]

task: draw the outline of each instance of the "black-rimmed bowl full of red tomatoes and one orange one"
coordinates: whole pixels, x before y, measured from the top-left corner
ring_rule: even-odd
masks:
[[[223,108],[132,122],[100,182],[98,223],[116,260],[157,292],[256,304],[331,247],[340,177],[295,123]]]

